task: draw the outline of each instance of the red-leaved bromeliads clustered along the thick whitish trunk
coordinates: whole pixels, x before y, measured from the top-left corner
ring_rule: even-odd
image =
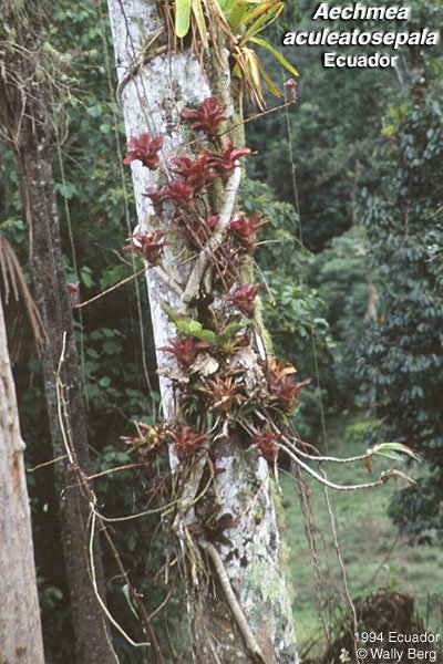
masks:
[[[295,101],[295,81],[288,81],[286,87],[288,100]],[[217,331],[212,335],[200,334],[203,339],[216,340],[214,345],[209,346],[208,343],[192,334],[183,334],[187,328],[179,326],[182,334],[169,339],[168,345],[158,349],[174,356],[173,360],[169,355],[169,363],[166,364],[173,363],[175,370],[177,364],[181,366],[181,371],[175,372],[178,378],[173,375],[173,372],[169,373],[171,380],[175,381],[179,391],[182,415],[174,424],[157,427],[138,424],[138,436],[126,438],[132,449],[147,463],[155,460],[158,455],[166,454],[167,448],[173,444],[181,459],[181,467],[189,467],[192,455],[195,454],[210,459],[209,439],[213,429],[207,435],[198,430],[198,426],[203,428],[199,424],[202,413],[210,412],[214,418],[217,417],[216,423],[220,422],[223,432],[229,423],[235,424],[236,427],[241,423],[245,424],[246,418],[251,418],[254,423],[251,413],[255,408],[266,408],[266,413],[272,411],[271,416],[276,421],[277,418],[285,421],[285,415],[291,414],[299,403],[297,397],[300,391],[310,383],[310,380],[296,383],[291,375],[296,370],[285,362],[277,364],[274,359],[267,360],[266,353],[264,353],[261,371],[250,370],[250,367],[255,369],[254,335],[247,330],[250,321],[244,321],[239,312],[248,318],[254,317],[256,297],[262,286],[250,283],[238,286],[238,270],[243,264],[250,262],[250,255],[257,245],[258,229],[265,221],[260,220],[258,212],[250,217],[240,215],[233,218],[236,214],[233,209],[236,208],[233,208],[230,196],[226,197],[225,203],[222,200],[223,189],[228,189],[229,183],[235,180],[235,176],[231,177],[230,174],[239,173],[235,170],[239,166],[239,159],[251,154],[248,147],[236,147],[230,138],[222,138],[220,124],[228,120],[224,115],[225,112],[226,106],[220,105],[216,97],[206,98],[196,110],[185,108],[182,117],[189,122],[193,129],[205,132],[212,139],[212,147],[210,149],[200,147],[197,154],[194,152],[190,155],[174,156],[168,164],[168,172],[165,168],[159,177],[154,178],[156,187],[151,186],[145,191],[145,196],[151,199],[159,217],[158,222],[162,224],[159,228],[181,234],[193,249],[203,248],[207,255],[199,252],[199,256],[204,256],[205,261],[209,263],[207,274],[210,279],[204,281],[204,286],[209,284],[212,292],[198,293],[200,297],[198,301],[195,298],[196,305],[193,299],[192,308],[194,309],[195,305],[196,318],[195,321],[189,319],[189,330],[193,330],[190,323],[195,322],[195,330],[204,329],[207,332],[206,325],[208,325],[209,330]],[[153,138],[148,133],[142,134],[138,138],[132,137],[124,163],[140,160],[143,166],[154,170],[159,166],[158,153],[162,146],[163,138]],[[166,165],[162,162],[162,166]],[[235,193],[234,186],[233,191]],[[212,207],[215,205],[219,208]],[[220,209],[224,210],[220,211],[223,228],[218,229],[220,217],[214,211]],[[229,222],[226,229],[227,221]],[[214,229],[216,229],[215,234]],[[165,235],[163,230],[134,234],[133,242],[125,249],[137,251],[151,266],[158,266],[163,249],[169,243],[165,241]],[[213,240],[217,241],[208,243],[212,236]],[[195,260],[195,251],[188,253],[189,259]],[[187,255],[185,258],[187,259]],[[171,318],[175,322],[175,318]],[[227,330],[229,324],[233,325],[231,334],[230,330],[229,333]],[[227,332],[223,335],[225,329]],[[256,345],[258,347],[258,342]],[[165,360],[165,356],[163,357]],[[262,372],[266,373],[266,382]],[[167,372],[164,372],[164,375],[167,375]],[[182,377],[186,380],[181,382]],[[275,463],[278,458],[280,438],[281,435],[265,429],[257,430],[253,438],[249,438],[249,443],[267,461]],[[215,449],[214,458],[216,459]],[[208,483],[214,481],[210,475],[216,475],[217,469],[215,471],[209,469],[207,464],[206,471],[209,475]],[[212,489],[209,494],[210,491]],[[196,522],[189,526],[189,531],[204,535],[208,541],[228,542],[224,531],[235,527],[237,521],[231,515],[220,516],[219,506],[214,501],[206,501],[206,498],[207,496],[196,504]]]

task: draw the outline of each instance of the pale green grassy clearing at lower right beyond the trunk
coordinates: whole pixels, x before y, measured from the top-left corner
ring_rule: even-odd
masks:
[[[333,436],[329,453],[346,457],[361,454],[365,448],[364,444],[344,444],[342,437]],[[384,459],[375,461],[373,479],[382,469],[392,467],[391,464],[393,463],[387,463]],[[338,484],[371,480],[362,464],[352,467],[334,466],[328,471],[328,476]],[[295,592],[295,624],[298,642],[302,647],[320,626],[313,571],[293,481],[282,476],[280,484],[284,490],[285,539],[290,549],[289,575]],[[318,550],[323,561],[322,569],[326,571],[327,564],[327,577],[342,588],[323,489],[315,480],[308,484],[318,528]],[[387,507],[394,489],[395,485],[391,481],[372,490],[329,490],[350,594],[356,600],[378,588],[409,593],[414,596],[416,610],[425,619],[427,630],[442,632],[443,552],[436,547],[410,547],[404,539],[398,537],[387,516]],[[333,593],[333,596],[336,601],[340,601],[337,593]]]

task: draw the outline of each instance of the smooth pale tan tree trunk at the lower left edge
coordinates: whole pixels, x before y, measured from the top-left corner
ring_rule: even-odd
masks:
[[[24,447],[0,298],[1,664],[44,664]]]

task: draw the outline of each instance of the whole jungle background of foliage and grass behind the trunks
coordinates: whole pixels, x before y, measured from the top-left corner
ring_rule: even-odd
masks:
[[[268,39],[309,25],[316,3],[288,0]],[[436,27],[440,2],[414,2],[411,22]],[[320,25],[321,27],[321,25]],[[330,23],[329,25],[330,27]],[[316,29],[319,29],[317,22]],[[371,29],[368,25],[368,29]],[[135,224],[125,136],[115,101],[106,7],[101,0],[59,0],[45,49],[64,98],[51,106],[56,141],[53,168],[62,217],[68,281],[85,301],[120,283],[141,264],[122,252]],[[277,355],[312,385],[300,397],[301,437],[322,450],[354,456],[384,440],[410,445],[421,463],[403,470],[418,485],[389,484],[375,492],[333,496],[338,536],[352,598],[380,588],[414,598],[427,630],[442,627],[443,579],[443,58],[441,46],[403,49],[399,71],[324,70],[317,48],[286,49],[300,71],[289,110],[246,125],[249,159],[245,211],[269,219],[258,263],[268,284],[265,322]],[[276,80],[279,65],[264,55]],[[268,98],[268,106],[277,102]],[[250,112],[250,110],[249,110]],[[55,122],[56,121],[56,122]],[[60,129],[62,127],[62,129]],[[0,231],[27,269],[28,237],[7,144],[0,153]],[[128,463],[122,436],[134,421],[153,423],[159,397],[143,280],[130,281],[76,313],[89,439],[95,473]],[[39,362],[16,363],[42,608],[50,662],[70,661],[72,627],[62,563],[53,466]],[[333,479],[363,480],[368,470],[340,468]],[[312,511],[329,557],[326,604],[316,596],[310,551],[292,480],[281,468],[281,517],[301,650],[321,651],[319,611],[339,605],[340,569],[322,490]],[[107,512],[120,516],[148,501],[150,481],[131,470],[96,480]],[[165,596],[162,561],[168,541],[148,517],[113,527],[122,559],[142,584],[150,611]],[[105,552],[110,602],[136,633],[124,584]],[[324,598],[323,598],[324,599]],[[185,657],[179,589],[156,619],[171,662]],[[119,642],[122,662],[143,655]],[[178,650],[177,650],[178,649]],[[138,658],[140,657],[140,658]],[[178,660],[177,660],[178,657]],[[183,660],[185,661],[185,658]]]

